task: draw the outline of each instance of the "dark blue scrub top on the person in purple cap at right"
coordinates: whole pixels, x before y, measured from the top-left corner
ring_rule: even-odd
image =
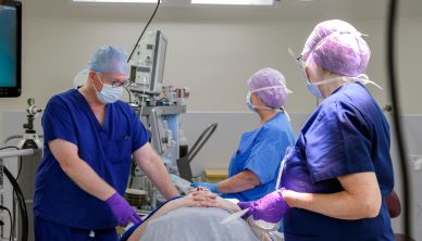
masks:
[[[394,240],[385,203],[394,187],[389,141],[388,123],[361,84],[344,85],[325,99],[288,150],[283,187],[334,193],[344,190],[337,177],[374,172],[384,198],[382,207],[377,217],[359,220],[290,208],[284,216],[286,240]]]

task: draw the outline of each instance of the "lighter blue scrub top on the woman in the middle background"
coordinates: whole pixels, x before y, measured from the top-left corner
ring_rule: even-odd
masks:
[[[275,190],[280,163],[286,148],[295,144],[295,135],[285,113],[280,112],[261,127],[241,136],[238,150],[233,154],[228,177],[249,169],[261,185],[237,193],[223,194],[223,198],[239,201],[259,200]]]

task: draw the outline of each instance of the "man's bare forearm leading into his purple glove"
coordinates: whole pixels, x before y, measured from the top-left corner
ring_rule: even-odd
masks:
[[[101,179],[97,173],[83,160],[74,160],[72,165],[61,165],[63,172],[76,185],[89,194],[105,201],[115,190]]]

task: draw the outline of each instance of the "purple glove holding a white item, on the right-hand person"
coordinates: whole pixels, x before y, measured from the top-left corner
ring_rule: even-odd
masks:
[[[289,206],[284,201],[282,190],[273,191],[257,201],[239,202],[237,205],[241,208],[248,208],[247,216],[252,215],[256,220],[264,220],[269,223],[278,223]]]

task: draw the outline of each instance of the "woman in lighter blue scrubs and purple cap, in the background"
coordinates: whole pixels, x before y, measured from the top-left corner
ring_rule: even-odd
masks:
[[[248,80],[248,107],[261,119],[258,128],[241,135],[233,154],[228,179],[218,183],[194,182],[222,198],[258,200],[275,190],[280,164],[286,148],[295,143],[294,131],[284,103],[290,90],[282,73],[262,68]]]

